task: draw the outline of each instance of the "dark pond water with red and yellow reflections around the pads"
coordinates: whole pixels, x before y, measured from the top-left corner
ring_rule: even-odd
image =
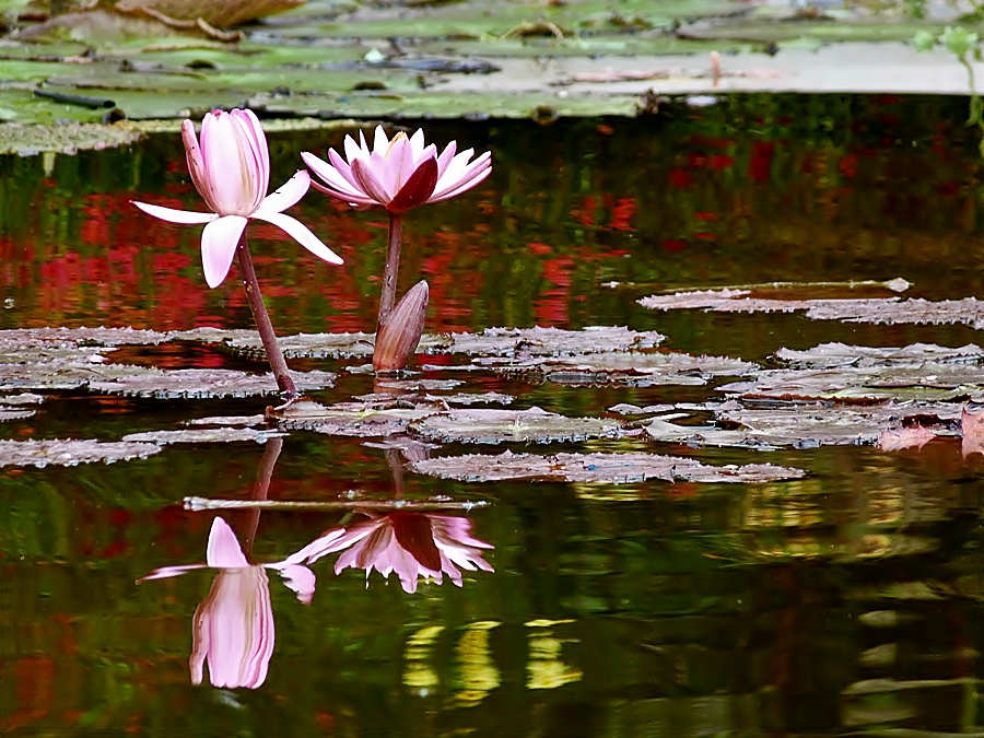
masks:
[[[666,333],[671,350],[751,361],[834,340],[980,342],[959,326],[657,313],[635,303],[669,289],[895,277],[913,282],[913,296],[984,294],[981,164],[967,109],[957,98],[736,96],[637,120],[427,122],[438,144],[456,138],[491,150],[494,172],[466,196],[410,213],[400,289],[430,281],[431,331],[625,325]],[[302,150],[323,153],[341,138],[271,137],[274,186]],[[0,160],[0,328],[251,327],[237,280],[206,288],[197,229],[151,221],[131,199],[199,208],[177,136],[128,151]],[[251,225],[278,331],[372,330],[385,219],[314,191],[293,212],[345,267]],[[118,356],[263,368],[198,344]],[[345,372],[355,363],[292,365],[337,371],[336,387],[315,395],[336,401],[372,390],[371,377]],[[464,378],[459,390],[507,393],[513,407],[572,415],[715,398],[715,383]],[[0,434],[114,440],[266,403],[62,393]],[[112,466],[0,470],[0,734],[984,733],[984,470],[952,444],[889,455],[591,442],[550,450],[768,460],[809,476],[758,485],[460,483],[401,471],[391,453],[358,438],[292,432],[269,499],[354,491],[388,500],[398,485],[407,499],[485,501],[447,514],[467,515],[471,535],[491,547],[472,553],[492,571],[465,571],[460,588],[421,582],[411,594],[396,574],[336,574],[332,554],[311,565],[309,604],[273,570],[203,569],[138,584],[159,567],[204,560],[215,514],[186,511],[181,500],[248,499],[274,460],[263,450],[178,445]],[[260,563],[368,519],[222,517]],[[405,526],[408,541],[420,534],[414,525]],[[262,653],[250,654],[251,677],[231,677],[255,689],[213,687],[208,670],[191,683],[192,618],[223,588],[253,591],[243,607],[272,629],[256,635],[257,651],[272,644],[266,677],[257,676]]]

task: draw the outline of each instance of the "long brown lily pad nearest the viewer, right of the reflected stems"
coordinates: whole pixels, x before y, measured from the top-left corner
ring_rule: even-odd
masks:
[[[694,459],[656,454],[475,454],[413,461],[413,471],[467,482],[555,481],[628,484],[648,479],[671,482],[775,482],[800,479],[801,469],[771,464],[714,467]]]

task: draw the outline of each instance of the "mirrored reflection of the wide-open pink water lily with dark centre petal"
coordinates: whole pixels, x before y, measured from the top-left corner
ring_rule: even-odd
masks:
[[[370,519],[329,530],[292,559],[300,561],[306,555],[311,563],[349,549],[336,562],[336,574],[349,566],[364,569],[366,577],[373,569],[387,578],[396,572],[408,593],[417,591],[421,576],[441,584],[447,574],[460,587],[462,575],[458,567],[494,571],[482,558],[482,549],[493,547],[471,536],[471,520],[467,517],[435,513],[365,515]]]

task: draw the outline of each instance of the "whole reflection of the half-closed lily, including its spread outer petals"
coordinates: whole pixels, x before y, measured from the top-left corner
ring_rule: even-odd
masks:
[[[195,569],[221,570],[208,597],[195,610],[189,659],[192,683],[201,683],[206,660],[214,687],[256,689],[263,683],[273,655],[273,608],[266,570],[280,572],[284,584],[306,605],[314,596],[315,576],[298,561],[295,554],[282,562],[251,565],[232,528],[216,517],[204,564],[163,566],[141,579],[178,576]]]

